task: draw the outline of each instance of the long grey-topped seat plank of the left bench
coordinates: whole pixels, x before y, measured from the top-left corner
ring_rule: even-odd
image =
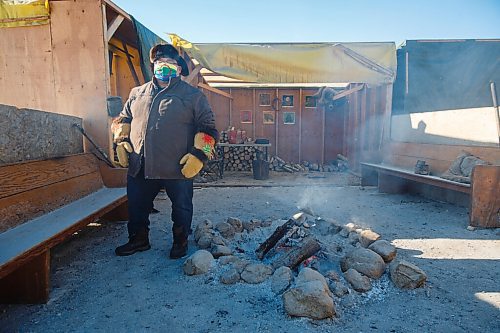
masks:
[[[0,234],[0,278],[126,202],[126,189],[101,189]],[[14,241],[15,240],[15,241]]]

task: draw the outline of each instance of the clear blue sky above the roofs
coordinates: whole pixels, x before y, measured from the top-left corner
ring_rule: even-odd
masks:
[[[113,0],[160,37],[190,42],[500,38],[500,0]]]

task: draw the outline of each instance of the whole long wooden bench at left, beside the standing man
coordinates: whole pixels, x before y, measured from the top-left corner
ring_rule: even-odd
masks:
[[[0,166],[0,303],[44,303],[50,249],[99,218],[127,219],[126,169],[92,154]]]

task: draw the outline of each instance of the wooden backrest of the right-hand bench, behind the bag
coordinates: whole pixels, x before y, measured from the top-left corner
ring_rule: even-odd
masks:
[[[500,149],[497,147],[455,146],[391,141],[384,147],[383,164],[413,170],[417,160],[429,164],[431,174],[439,175],[448,170],[451,163],[463,151],[471,153],[495,165],[500,165]]]

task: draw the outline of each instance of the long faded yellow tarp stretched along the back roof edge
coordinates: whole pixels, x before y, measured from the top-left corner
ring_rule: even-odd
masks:
[[[394,82],[396,45],[384,43],[172,44],[216,73],[257,83]]]

